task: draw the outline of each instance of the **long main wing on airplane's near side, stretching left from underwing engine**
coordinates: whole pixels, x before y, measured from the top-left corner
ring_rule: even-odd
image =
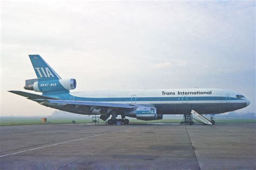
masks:
[[[69,100],[34,100],[38,102],[49,102],[55,104],[73,104],[73,105],[87,105],[95,107],[107,107],[107,108],[122,108],[122,109],[133,109],[134,105],[123,104],[123,103],[104,103],[104,102],[86,102],[86,101],[69,101]]]

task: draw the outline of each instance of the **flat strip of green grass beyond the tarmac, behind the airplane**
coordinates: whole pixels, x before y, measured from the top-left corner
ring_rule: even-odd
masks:
[[[92,119],[85,118],[65,118],[65,117],[48,117],[47,122],[42,122],[42,117],[0,117],[0,126],[9,125],[30,125],[30,124],[61,124],[61,123],[92,123]],[[157,121],[140,121],[138,119],[130,119],[131,123],[180,123],[181,119],[162,119]],[[256,119],[245,118],[223,118],[214,119],[216,123],[256,123]],[[196,122],[196,121],[195,121]],[[99,123],[105,123],[99,120]]]

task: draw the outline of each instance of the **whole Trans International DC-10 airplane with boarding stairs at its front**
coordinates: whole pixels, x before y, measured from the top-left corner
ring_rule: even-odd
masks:
[[[37,79],[25,80],[26,90],[42,93],[32,94],[11,90],[10,93],[24,96],[46,107],[81,115],[99,115],[107,124],[117,121],[129,124],[133,117],[143,121],[163,119],[163,115],[184,115],[190,124],[191,115],[204,124],[215,124],[213,116],[247,107],[250,101],[242,94],[231,90],[152,89],[152,90],[98,90],[71,93],[77,86],[76,79],[62,79],[40,55],[29,55]],[[120,115],[122,119],[117,119]],[[111,118],[110,118],[111,117]],[[186,122],[185,122],[186,123]]]

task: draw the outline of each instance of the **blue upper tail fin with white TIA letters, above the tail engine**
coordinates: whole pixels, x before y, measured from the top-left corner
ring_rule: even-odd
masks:
[[[40,55],[29,55],[39,81],[62,79]]]

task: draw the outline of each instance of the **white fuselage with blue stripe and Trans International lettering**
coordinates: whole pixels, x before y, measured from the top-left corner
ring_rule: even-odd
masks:
[[[152,105],[159,114],[220,114],[250,104],[240,93],[224,89],[107,90],[70,93],[66,100]]]

